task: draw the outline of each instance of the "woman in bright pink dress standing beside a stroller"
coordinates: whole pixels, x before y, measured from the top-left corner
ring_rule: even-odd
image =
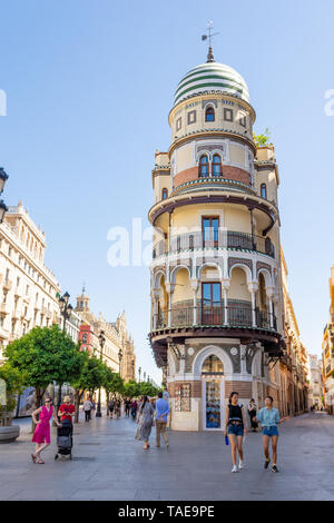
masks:
[[[39,414],[39,421],[37,421],[36,416]],[[36,451],[35,454],[31,454],[31,460],[33,463],[43,464],[45,462],[40,457],[40,453],[47,448],[50,443],[50,420],[53,416],[53,420],[57,426],[61,426],[58,422],[57,416],[55,416],[53,407],[51,405],[51,399],[47,397],[45,399],[45,405],[37,408],[32,413],[32,420],[36,424],[36,430],[32,436],[32,441],[36,443]]]

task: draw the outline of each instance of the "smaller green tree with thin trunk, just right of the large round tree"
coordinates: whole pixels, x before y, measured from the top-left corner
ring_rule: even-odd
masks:
[[[79,407],[85,391],[96,391],[104,386],[106,382],[106,365],[96,356],[89,356],[89,353],[81,353],[82,367],[80,375],[71,382],[75,387],[76,415],[75,423],[79,421]]]

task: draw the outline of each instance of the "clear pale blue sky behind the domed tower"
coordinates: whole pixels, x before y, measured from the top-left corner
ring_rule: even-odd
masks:
[[[282,241],[302,338],[321,353],[333,256],[334,3],[310,0],[0,0],[0,165],[7,204],[21,198],[47,235],[47,265],[76,296],[115,320],[126,310],[138,364],[159,378],[146,335],[149,272],[110,267],[107,233],[151,205],[154,152],[181,76],[217,61],[248,83],[256,131],[268,127],[281,174]]]

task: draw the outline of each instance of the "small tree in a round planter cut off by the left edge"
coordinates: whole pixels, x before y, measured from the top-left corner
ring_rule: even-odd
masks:
[[[0,443],[11,443],[20,435],[19,425],[12,425],[17,395],[22,391],[19,372],[8,363],[0,367]]]

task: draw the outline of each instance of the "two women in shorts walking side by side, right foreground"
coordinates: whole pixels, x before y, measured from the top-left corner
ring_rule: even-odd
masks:
[[[230,444],[232,472],[238,472],[244,468],[244,450],[243,441],[246,436],[246,418],[243,405],[239,403],[239,395],[237,392],[232,392],[228,399],[228,407],[226,409],[225,420],[225,437],[226,444]],[[278,472],[277,468],[277,442],[278,442],[278,428],[277,425],[284,422],[284,417],[281,418],[277,408],[273,406],[274,399],[272,396],[266,396],[265,406],[256,413],[256,405],[254,399],[250,399],[248,405],[248,413],[250,417],[252,430],[256,431],[258,423],[262,425],[262,438],[263,438],[263,451],[265,455],[264,468],[268,468],[271,463],[269,455],[269,443],[272,442],[273,462],[272,472]],[[239,456],[239,463],[237,465],[237,454]]]

